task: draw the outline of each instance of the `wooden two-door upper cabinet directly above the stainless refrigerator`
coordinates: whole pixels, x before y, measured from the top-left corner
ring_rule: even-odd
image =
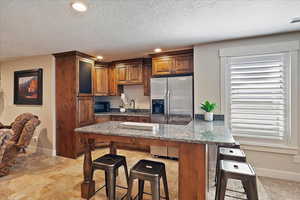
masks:
[[[151,56],[153,76],[193,73],[192,50],[152,54]]]

